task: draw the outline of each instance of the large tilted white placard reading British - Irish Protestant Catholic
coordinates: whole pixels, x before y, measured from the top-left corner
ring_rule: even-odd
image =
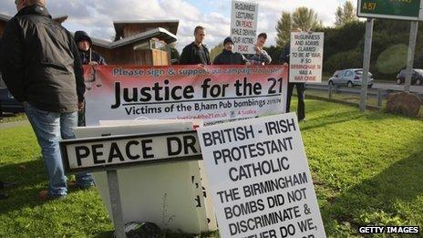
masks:
[[[325,237],[294,113],[198,133],[221,237]]]

